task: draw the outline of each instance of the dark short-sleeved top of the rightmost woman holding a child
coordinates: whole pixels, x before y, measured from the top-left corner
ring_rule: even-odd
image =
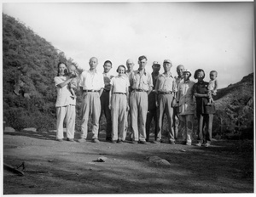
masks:
[[[193,87],[193,93],[207,94],[208,82],[197,82]],[[215,114],[215,105],[207,105],[207,97],[195,97],[196,99],[196,115]]]

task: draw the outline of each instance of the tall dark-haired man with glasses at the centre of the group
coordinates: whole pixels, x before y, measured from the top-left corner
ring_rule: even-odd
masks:
[[[147,65],[146,56],[138,58],[138,70],[130,75],[131,82],[131,130],[133,133],[132,143],[146,143],[146,118],[148,111],[148,94],[153,87],[152,76],[145,70]]]

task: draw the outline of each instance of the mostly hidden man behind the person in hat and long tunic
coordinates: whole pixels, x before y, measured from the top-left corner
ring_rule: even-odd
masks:
[[[177,69],[176,69],[177,76],[174,76],[177,87],[180,82],[183,82],[183,70],[184,70],[183,65],[177,65]],[[173,106],[173,129],[174,129],[174,135],[176,140],[178,135],[178,126],[179,126],[179,115],[178,115],[178,105],[176,104],[175,106]]]

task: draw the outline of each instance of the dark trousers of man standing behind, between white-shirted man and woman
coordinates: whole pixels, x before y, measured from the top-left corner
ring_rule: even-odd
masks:
[[[106,128],[106,138],[111,139],[111,133],[112,133],[112,121],[111,121],[111,110],[109,110],[109,92],[103,91],[101,96],[101,105],[102,105],[102,111],[101,111],[101,117],[104,114],[107,121],[107,128]]]

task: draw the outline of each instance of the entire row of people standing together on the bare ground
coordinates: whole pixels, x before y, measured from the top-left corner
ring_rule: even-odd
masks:
[[[106,140],[113,143],[122,143],[125,141],[126,132],[128,129],[128,116],[131,118],[131,143],[147,144],[149,140],[150,123],[154,118],[155,132],[154,143],[161,142],[161,133],[163,128],[163,115],[166,113],[168,121],[168,140],[171,144],[175,144],[177,139],[178,130],[183,130],[183,142],[185,144],[191,144],[191,133],[193,129],[193,117],[195,114],[195,102],[193,96],[195,95],[196,103],[200,104],[203,99],[203,108],[212,109],[205,114],[204,109],[197,107],[196,115],[199,118],[199,124],[201,128],[198,129],[198,139],[201,145],[202,143],[210,144],[211,130],[210,125],[212,119],[208,118],[214,114],[214,105],[206,105],[207,100],[207,87],[201,86],[196,88],[195,82],[191,82],[189,77],[191,72],[184,70],[183,65],[177,66],[177,77],[173,77],[171,73],[172,62],[170,59],[165,59],[163,62],[164,73],[160,74],[160,64],[154,62],[152,65],[153,72],[149,74],[145,70],[147,65],[147,58],[140,56],[138,59],[138,70],[133,70],[134,63],[132,59],[126,61],[127,70],[124,65],[119,65],[117,72],[118,76],[110,76],[109,70],[112,68],[111,61],[106,61],[103,65],[103,74],[96,71],[98,60],[91,58],[89,65],[90,70],[85,70],[80,77],[79,87],[82,92],[83,104],[82,104],[82,125],[81,125],[81,138],[79,142],[85,142],[88,132],[88,120],[92,115],[92,141],[99,143],[98,131],[99,120],[102,114],[105,114],[107,120],[106,128]],[[65,67],[62,64],[62,67]],[[61,70],[59,64],[59,73]],[[69,66],[68,70],[73,73],[73,66]],[[203,72],[203,76],[198,76],[198,73]],[[55,77],[55,84],[58,91],[58,98],[60,96],[60,89],[65,87],[66,92],[68,89],[72,89],[74,75],[65,76],[58,73]],[[195,79],[198,79],[198,83],[203,82],[204,78],[203,70],[196,70]],[[59,78],[62,78],[60,82]],[[56,80],[58,79],[58,80]],[[207,82],[206,82],[207,83]],[[180,84],[180,85],[179,85]],[[198,93],[197,93],[198,92]],[[72,121],[72,128],[68,125],[72,115],[68,113],[68,108],[74,106],[75,97],[74,93],[67,93],[67,101],[70,104],[61,106],[63,113],[58,113],[58,98],[56,102],[57,108],[57,140],[63,139],[63,121],[61,116],[66,115],[67,121],[67,141],[73,141],[74,124]],[[64,94],[63,94],[64,95]],[[64,96],[62,96],[63,98]],[[70,105],[70,106],[67,106]],[[129,113],[130,112],[130,113]],[[71,113],[73,114],[73,113]],[[213,116],[212,116],[213,117]],[[178,127],[178,125],[180,127]],[[204,125],[207,125],[207,130],[203,130]],[[180,129],[179,129],[180,128]],[[203,132],[207,131],[207,132]]]

